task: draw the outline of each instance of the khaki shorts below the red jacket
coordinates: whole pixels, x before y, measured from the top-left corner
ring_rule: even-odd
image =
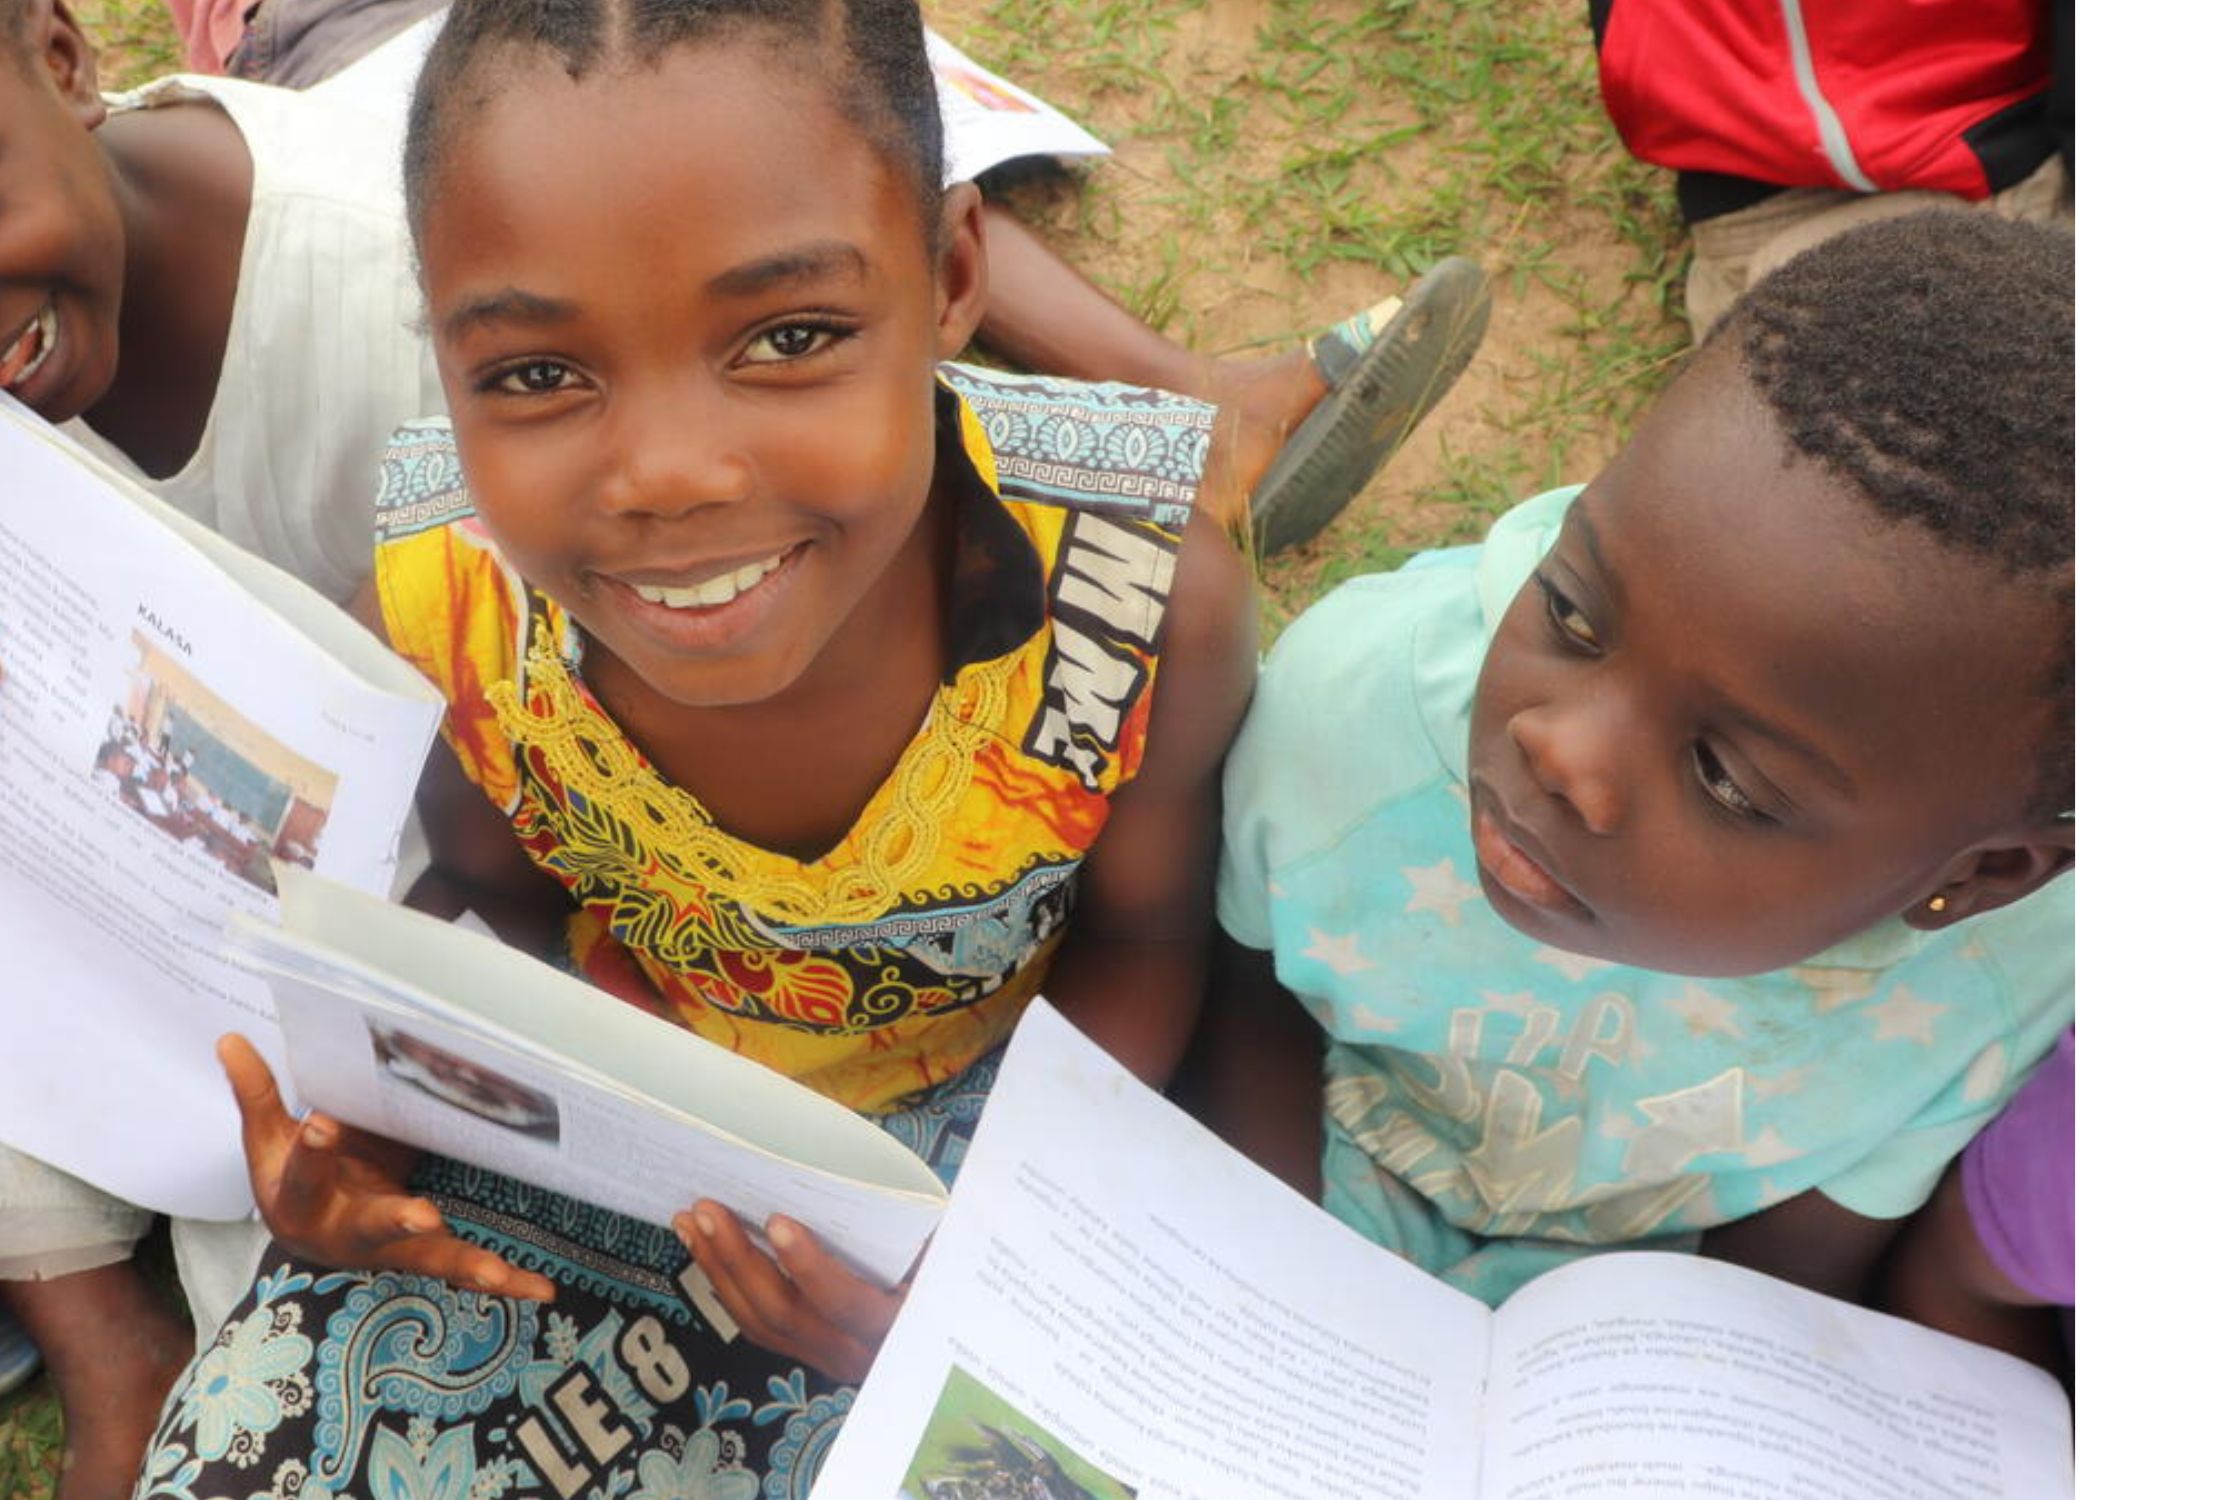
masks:
[[[1684,316],[1691,318],[1693,343],[1707,338],[1747,287],[1802,249],[1856,225],[1918,209],[1965,209],[2069,229],[2071,180],[2063,158],[2049,156],[2023,182],[1978,203],[1936,191],[1849,194],[1793,187],[1736,214],[1702,218],[1691,227],[1691,276],[1684,283]]]

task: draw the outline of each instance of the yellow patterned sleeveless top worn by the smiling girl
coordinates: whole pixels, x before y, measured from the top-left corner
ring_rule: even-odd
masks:
[[[1144,759],[1159,632],[1213,409],[950,365],[963,452],[950,661],[919,737],[839,846],[719,828],[581,681],[581,634],[494,550],[447,423],[405,427],[378,501],[394,648],[447,743],[576,904],[603,988],[861,1111],[1012,1030],[1072,912],[1108,799]]]

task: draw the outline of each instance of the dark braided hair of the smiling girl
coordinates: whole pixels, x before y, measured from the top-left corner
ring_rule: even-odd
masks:
[[[474,87],[485,67],[545,51],[578,80],[603,67],[654,65],[681,42],[743,31],[823,71],[843,118],[914,180],[932,238],[943,191],[943,116],[917,0],[456,0],[409,100],[403,147],[409,231],[423,238],[456,118],[487,100],[487,89]]]

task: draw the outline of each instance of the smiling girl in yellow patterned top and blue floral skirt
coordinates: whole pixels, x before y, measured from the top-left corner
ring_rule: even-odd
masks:
[[[405,156],[449,423],[380,487],[472,908],[946,1177],[1021,1006],[1164,1079],[1253,605],[1210,407],[941,365],[981,309],[908,0],[463,0]],[[285,1115],[227,1042],[256,1291],[145,1493],[790,1496],[894,1309]]]

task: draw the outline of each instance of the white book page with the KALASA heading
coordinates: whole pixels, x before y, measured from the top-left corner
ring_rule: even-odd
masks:
[[[243,1217],[216,1037],[276,1057],[278,1030],[225,921],[276,915],[280,866],[385,892],[438,697],[16,403],[0,474],[0,928],[20,977],[0,1139],[149,1208]]]

